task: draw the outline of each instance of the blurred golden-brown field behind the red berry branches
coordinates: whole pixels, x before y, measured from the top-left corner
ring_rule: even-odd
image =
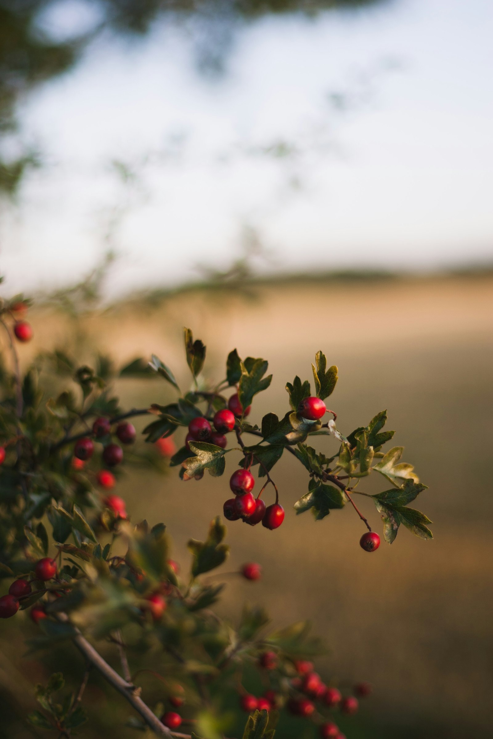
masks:
[[[214,377],[222,376],[235,346],[242,356],[269,360],[273,383],[254,405],[256,422],[268,410],[284,414],[285,382],[296,374],[311,378],[310,361],[324,350],[339,366],[330,398],[339,427],[350,432],[387,407],[395,443],[406,447],[405,460],[429,486],[419,507],[435,522],[434,541],[403,530],[392,548],[384,544],[369,556],[358,547],[361,522],[350,508],[316,523],[309,514],[295,517],[292,504],[306,480],[285,454],[275,468],[285,524],[270,532],[237,522],[229,531],[233,551],[225,569],[254,559],[265,577],[256,585],[231,582],[223,611],[234,617],[250,599],[267,605],[275,623],[313,621],[332,650],[320,670],[375,686],[361,717],[347,724],[348,739],[491,737],[493,278],[290,282],[249,295],[197,291],[84,319],[101,350],[122,361],[156,353],[185,385],[183,324],[207,344],[206,371]],[[63,316],[44,311],[33,315],[33,325],[38,347],[66,344]],[[120,381],[118,392],[126,405],[172,398],[159,380]],[[169,525],[177,559],[185,562],[186,539],[202,537],[220,512],[227,479],[180,483],[175,474],[149,473],[127,477],[122,489],[134,520],[150,519],[150,509],[153,522]],[[378,514],[365,503],[379,530]],[[1,651],[1,706],[15,708],[10,696],[17,693],[20,705],[33,707],[33,662],[16,661],[24,676],[18,680],[25,681],[20,698],[11,687],[13,647]],[[121,714],[105,736],[132,736],[120,727],[126,706],[115,705]],[[81,735],[92,736],[85,729]],[[0,729],[0,736],[7,734]]]

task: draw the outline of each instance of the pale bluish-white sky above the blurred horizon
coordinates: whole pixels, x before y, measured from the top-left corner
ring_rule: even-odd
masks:
[[[78,279],[112,219],[112,295],[227,266],[247,225],[262,270],[492,259],[490,0],[264,18],[237,31],[215,80],[197,72],[193,34],[99,41],[25,103],[45,166],[0,217],[8,293]],[[296,151],[261,153],[279,142]]]

